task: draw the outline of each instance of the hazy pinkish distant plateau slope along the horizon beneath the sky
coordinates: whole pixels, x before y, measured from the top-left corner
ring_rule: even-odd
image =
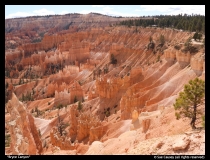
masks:
[[[66,14],[66,15],[49,15],[34,16],[27,18],[15,18],[5,20],[5,31],[15,30],[55,30],[56,28],[68,29],[69,26],[78,26],[79,28],[104,27],[119,21],[132,19],[124,17],[110,17],[102,14]],[[134,18],[133,18],[134,19]],[[90,25],[90,23],[92,23]]]

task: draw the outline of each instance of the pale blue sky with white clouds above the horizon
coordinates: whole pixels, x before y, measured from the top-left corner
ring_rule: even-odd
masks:
[[[5,19],[90,12],[123,17],[181,13],[205,15],[205,5],[5,5]]]

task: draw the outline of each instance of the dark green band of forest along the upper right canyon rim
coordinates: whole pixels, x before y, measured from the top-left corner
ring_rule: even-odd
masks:
[[[205,16],[196,14],[148,16],[148,19],[126,20],[117,23],[117,25],[170,27],[205,34]]]

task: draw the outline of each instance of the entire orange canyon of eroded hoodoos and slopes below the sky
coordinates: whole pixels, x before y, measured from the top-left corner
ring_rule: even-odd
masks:
[[[205,80],[203,44],[183,52],[193,32],[109,25],[125,19],[5,20],[6,155],[205,155],[205,130],[173,107],[185,84]],[[45,34],[31,43],[34,28]]]

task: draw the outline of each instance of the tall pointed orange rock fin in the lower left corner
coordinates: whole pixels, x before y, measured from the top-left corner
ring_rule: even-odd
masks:
[[[42,143],[34,125],[33,117],[27,113],[24,104],[15,94],[9,100],[7,110],[10,113],[9,131],[12,154],[36,155],[42,153]]]

